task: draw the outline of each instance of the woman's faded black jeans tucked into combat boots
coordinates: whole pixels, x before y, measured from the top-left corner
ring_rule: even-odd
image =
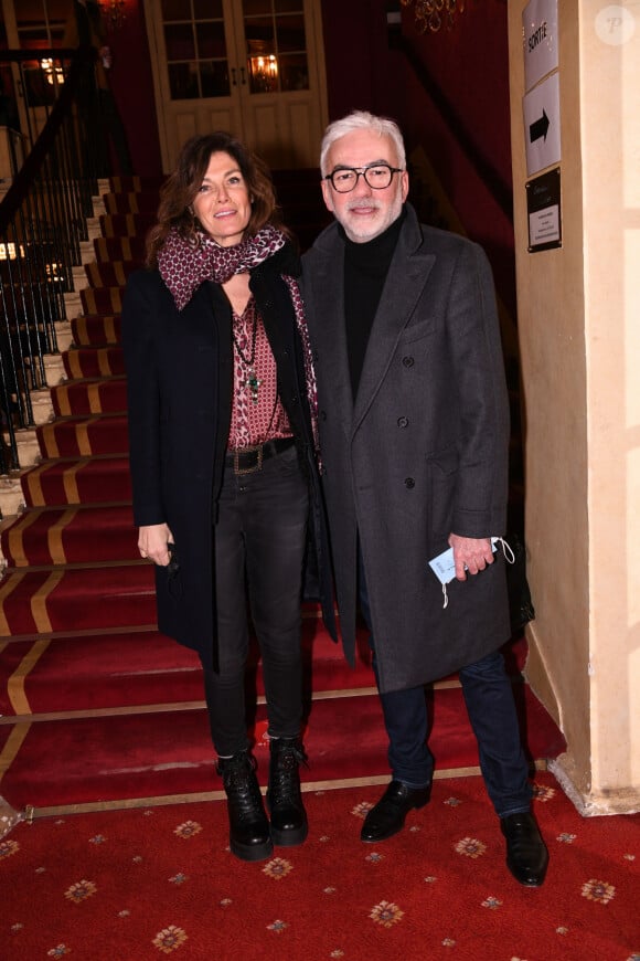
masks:
[[[220,756],[248,744],[247,595],[263,657],[268,732],[291,738],[302,717],[301,581],[308,487],[294,446],[259,471],[224,474],[215,525],[220,673],[205,669],[211,735]]]

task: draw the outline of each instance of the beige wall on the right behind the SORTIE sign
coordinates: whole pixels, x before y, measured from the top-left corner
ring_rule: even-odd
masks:
[[[640,0],[558,0],[563,246],[527,253],[522,10],[509,4],[527,677],[588,814],[640,810]],[[615,12],[615,11],[608,11]],[[604,14],[602,14],[604,15]]]

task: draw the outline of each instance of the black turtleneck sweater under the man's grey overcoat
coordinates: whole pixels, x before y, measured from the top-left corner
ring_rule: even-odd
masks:
[[[380,304],[391,260],[393,257],[405,209],[384,233],[365,243],[344,240],[344,320],[346,325],[346,352],[353,399],[358,394],[360,376],[371,335],[373,318]]]

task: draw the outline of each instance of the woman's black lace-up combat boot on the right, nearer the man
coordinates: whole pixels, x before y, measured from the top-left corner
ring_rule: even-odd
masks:
[[[307,754],[298,738],[273,738],[270,742],[267,807],[271,815],[274,844],[292,847],[302,844],[309,825],[300,793],[299,764]]]

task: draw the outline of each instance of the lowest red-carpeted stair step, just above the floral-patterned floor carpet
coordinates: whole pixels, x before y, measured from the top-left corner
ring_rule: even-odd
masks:
[[[478,751],[459,688],[436,691],[429,746],[436,775],[478,772]],[[526,705],[524,706],[524,701]],[[527,688],[523,709],[529,749],[537,759],[555,757],[562,739]],[[260,783],[266,783],[268,740],[265,708],[253,726]],[[2,793],[15,810],[42,809],[132,798],[169,798],[220,791],[214,773],[206,710],[168,704],[139,712],[115,708],[104,716],[72,716],[0,726],[0,751],[13,740]],[[388,779],[386,733],[375,694],[313,701],[303,731],[309,768],[303,784],[321,786],[341,779]],[[354,744],[358,750],[354,750]],[[64,777],[61,778],[61,769]]]

